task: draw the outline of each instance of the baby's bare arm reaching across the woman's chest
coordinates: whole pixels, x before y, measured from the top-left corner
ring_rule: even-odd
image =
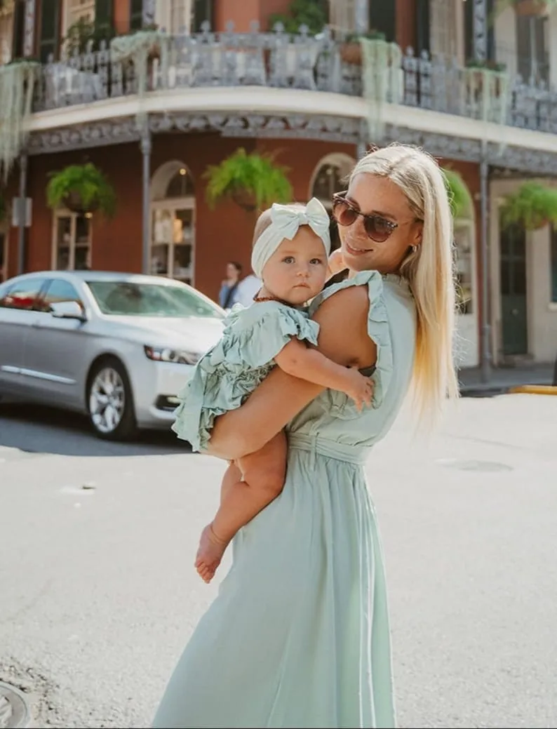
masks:
[[[343,367],[332,362],[316,349],[310,349],[300,340],[292,339],[275,356],[275,362],[288,375],[307,380],[332,390],[345,392],[357,405],[371,404],[372,381],[354,367]]]

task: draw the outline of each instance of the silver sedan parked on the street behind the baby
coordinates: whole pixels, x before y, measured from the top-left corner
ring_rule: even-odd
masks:
[[[225,312],[158,276],[43,271],[0,284],[0,395],[87,413],[98,436],[168,427]]]

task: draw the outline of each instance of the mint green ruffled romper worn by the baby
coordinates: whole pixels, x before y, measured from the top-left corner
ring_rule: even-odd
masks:
[[[172,429],[194,451],[205,451],[215,418],[239,408],[275,366],[274,358],[292,338],[317,344],[319,324],[308,313],[262,301],[233,307],[217,344],[201,357],[178,397]]]

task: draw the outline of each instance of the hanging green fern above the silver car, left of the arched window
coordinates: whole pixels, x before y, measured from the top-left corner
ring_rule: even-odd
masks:
[[[82,214],[99,211],[111,217],[116,208],[116,194],[101,170],[87,162],[50,174],[47,204],[52,209],[64,207]]]

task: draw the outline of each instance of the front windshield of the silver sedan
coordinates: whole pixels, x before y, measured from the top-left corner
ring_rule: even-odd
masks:
[[[182,286],[136,281],[87,281],[98,308],[113,316],[203,316],[222,319],[216,305]]]

